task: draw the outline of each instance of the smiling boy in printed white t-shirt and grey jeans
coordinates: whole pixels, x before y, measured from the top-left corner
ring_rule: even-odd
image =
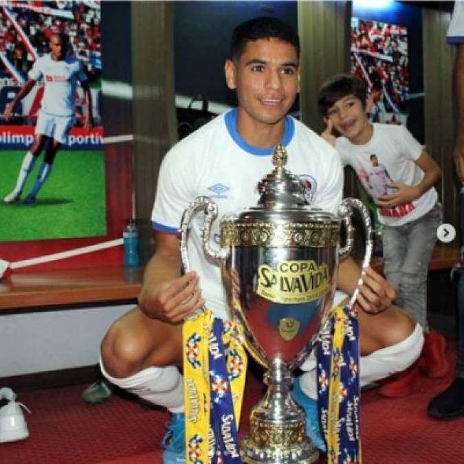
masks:
[[[441,170],[404,126],[371,124],[364,82],[349,74],[322,85],[318,104],[327,124],[322,137],[337,148],[378,208],[384,245],[384,272],[397,287],[397,304],[408,309],[426,335],[426,372],[443,377],[448,370],[445,339],[427,323],[428,263],[442,221],[433,185]],[[332,135],[335,129],[341,137]],[[388,388],[386,388],[388,390]]]

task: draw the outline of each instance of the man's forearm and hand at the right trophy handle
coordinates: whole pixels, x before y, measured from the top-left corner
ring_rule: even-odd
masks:
[[[353,295],[359,284],[360,267],[350,256],[340,263],[337,274],[337,288],[348,295]],[[363,283],[357,296],[355,306],[369,314],[382,313],[390,307],[396,298],[393,287],[371,267],[362,276]]]

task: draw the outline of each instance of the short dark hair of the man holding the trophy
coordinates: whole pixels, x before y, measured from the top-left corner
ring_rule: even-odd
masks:
[[[298,34],[289,24],[269,16],[260,16],[235,27],[234,32],[232,32],[229,58],[238,60],[243,54],[247,43],[257,41],[260,38],[278,38],[280,41],[293,45],[298,60],[300,59],[300,38],[298,38]]]

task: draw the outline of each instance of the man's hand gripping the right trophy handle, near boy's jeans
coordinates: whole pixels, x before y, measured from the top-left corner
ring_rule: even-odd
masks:
[[[397,297],[395,289],[372,267],[362,274],[362,285],[355,306],[368,314],[379,314],[388,309]]]

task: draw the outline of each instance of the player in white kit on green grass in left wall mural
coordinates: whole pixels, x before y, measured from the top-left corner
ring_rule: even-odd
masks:
[[[41,189],[52,171],[52,165],[60,146],[67,141],[69,131],[74,126],[76,111],[76,87],[78,80],[85,95],[85,129],[91,129],[92,100],[87,75],[78,58],[68,54],[69,38],[65,34],[54,33],[49,36],[50,53],[38,58],[27,76],[21,90],[6,106],[3,118],[8,122],[14,113],[14,108],[32,90],[39,78],[43,77],[45,91],[42,97],[41,110],[38,113],[34,144],[27,150],[14,189],[5,196],[5,203],[12,203],[21,199],[21,194],[36,159],[43,151],[45,157],[38,170],[32,190],[23,200],[23,205],[35,203],[38,191]]]

